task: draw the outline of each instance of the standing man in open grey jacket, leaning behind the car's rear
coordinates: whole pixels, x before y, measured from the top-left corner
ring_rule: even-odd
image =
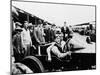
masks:
[[[45,43],[45,38],[44,38],[44,28],[42,22],[39,20],[37,27],[34,29],[34,37],[36,40],[36,48],[38,48],[38,54],[41,55],[40,49],[41,47],[39,45]],[[43,49],[43,48],[42,48]]]

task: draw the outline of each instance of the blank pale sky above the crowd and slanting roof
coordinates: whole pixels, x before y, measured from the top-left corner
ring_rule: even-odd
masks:
[[[64,21],[67,22],[67,25],[95,21],[95,7],[93,6],[20,1],[12,1],[12,5],[58,26],[63,26]]]

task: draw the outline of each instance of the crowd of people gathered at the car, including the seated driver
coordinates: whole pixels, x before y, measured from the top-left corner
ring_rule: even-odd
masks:
[[[32,53],[31,47],[36,50],[39,45],[50,43],[47,48],[48,60],[51,60],[51,52],[59,58],[63,58],[71,54],[65,50],[68,50],[67,42],[72,37],[73,31],[66,25],[66,22],[64,22],[63,27],[48,23],[43,25],[40,20],[37,25],[28,21],[24,21],[23,24],[16,22],[12,31],[12,53],[15,61],[19,61]]]

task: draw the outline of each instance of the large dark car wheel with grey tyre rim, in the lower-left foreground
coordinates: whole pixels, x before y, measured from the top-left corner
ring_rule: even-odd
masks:
[[[44,67],[40,60],[34,56],[27,56],[25,57],[22,62],[23,64],[27,65],[33,73],[42,73],[44,72]]]

